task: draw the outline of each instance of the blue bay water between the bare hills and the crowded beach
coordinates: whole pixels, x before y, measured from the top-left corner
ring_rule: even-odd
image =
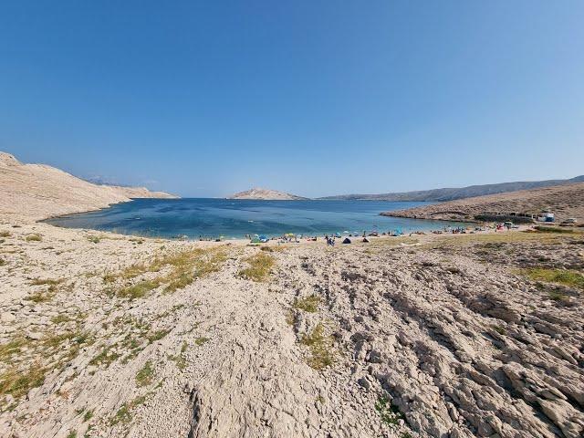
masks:
[[[71,214],[47,223],[71,228],[92,228],[126,235],[161,237],[276,236],[285,233],[324,235],[331,233],[404,233],[442,229],[443,221],[424,221],[381,216],[426,203],[384,201],[251,201],[231,199],[137,199],[110,208]]]

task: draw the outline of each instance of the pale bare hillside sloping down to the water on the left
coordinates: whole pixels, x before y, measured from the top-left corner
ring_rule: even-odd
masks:
[[[0,151],[0,214],[38,220],[123,203],[130,198],[172,198],[143,187],[97,185],[45,164],[23,164]]]

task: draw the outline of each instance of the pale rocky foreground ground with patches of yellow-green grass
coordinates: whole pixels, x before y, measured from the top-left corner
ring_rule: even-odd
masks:
[[[0,235],[1,436],[582,434],[581,234]]]

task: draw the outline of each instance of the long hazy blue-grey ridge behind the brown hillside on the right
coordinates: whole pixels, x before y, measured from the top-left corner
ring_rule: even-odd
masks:
[[[484,196],[486,194],[516,192],[518,190],[529,190],[542,187],[553,187],[556,185],[583,182],[584,175],[580,175],[569,180],[522,181],[516,183],[469,185],[467,187],[460,188],[420,190],[416,192],[380,193],[380,194],[340,194],[337,196],[324,196],[318,199],[347,201],[370,200],[370,201],[446,202],[454,201],[456,199],[472,198],[474,196]]]

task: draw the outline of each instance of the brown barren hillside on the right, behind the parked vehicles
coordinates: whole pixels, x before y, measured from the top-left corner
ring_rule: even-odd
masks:
[[[584,183],[477,196],[382,214],[418,219],[472,221],[478,214],[538,214],[547,208],[556,214],[558,222],[569,217],[579,219],[580,223],[584,222]]]

